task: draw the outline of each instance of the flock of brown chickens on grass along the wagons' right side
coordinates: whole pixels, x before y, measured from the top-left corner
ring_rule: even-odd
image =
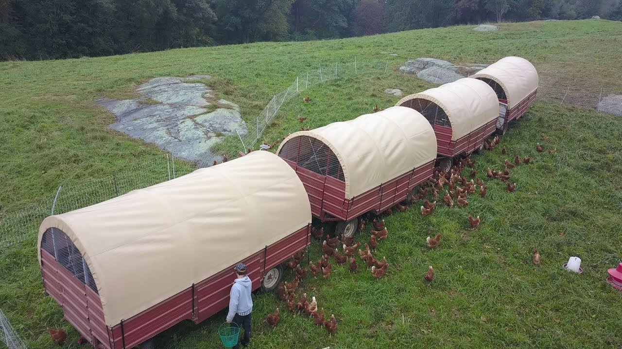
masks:
[[[546,142],[549,142],[550,139],[542,134],[542,139]],[[484,147],[486,149],[494,149],[501,142],[501,138],[498,136],[494,137],[493,140],[486,140],[484,143]],[[540,143],[536,145],[537,152],[544,152],[544,148]],[[555,152],[554,150],[549,150],[549,153]],[[501,153],[506,154],[507,150],[505,147],[501,150]],[[315,296],[312,297],[311,302],[307,299],[307,293],[303,293],[302,296],[298,300],[296,300],[296,289],[299,286],[299,283],[307,276],[309,271],[313,274],[314,277],[317,277],[318,274],[322,273],[322,278],[328,279],[330,278],[330,274],[332,272],[332,263],[330,263],[329,258],[334,258],[334,263],[337,265],[348,265],[348,270],[354,273],[358,268],[358,264],[355,258],[355,253],[358,253],[358,256],[363,260],[367,269],[371,271],[371,274],[374,278],[379,279],[384,276],[386,270],[389,266],[389,263],[386,261],[386,257],[383,257],[381,261],[376,260],[371,251],[375,251],[376,247],[378,247],[378,242],[387,238],[388,230],[385,227],[383,217],[392,214],[392,209],[396,209],[397,211],[407,211],[410,207],[409,204],[416,204],[420,201],[420,199],[424,199],[423,205],[420,206],[420,212],[422,215],[430,215],[434,212],[437,201],[430,202],[427,197],[431,193],[432,197],[435,200],[440,199],[442,195],[443,189],[445,189],[445,195],[442,197],[443,203],[448,207],[453,207],[455,205],[460,207],[465,207],[468,205],[467,197],[469,194],[475,194],[476,191],[480,195],[480,197],[485,197],[487,192],[487,187],[484,185],[483,180],[477,178],[477,171],[473,168],[476,161],[471,160],[470,156],[466,156],[463,158],[457,165],[452,166],[450,171],[446,173],[445,171],[440,170],[439,168],[435,169],[434,174],[430,179],[428,179],[423,185],[422,188],[419,189],[419,192],[412,196],[409,200],[402,202],[402,204],[397,204],[396,206],[389,208],[388,210],[382,212],[378,217],[373,218],[372,224],[374,230],[371,230],[371,236],[369,237],[369,244],[364,243],[364,248],[361,249],[361,242],[354,243],[354,237],[344,237],[341,241],[339,237],[331,238],[330,235],[324,235],[324,228],[320,227],[316,229],[312,227],[312,236],[317,240],[322,240],[322,252],[323,256],[317,263],[313,263],[313,261],[309,262],[308,270],[307,268],[302,268],[300,266],[300,262],[304,257],[304,252],[300,251],[290,258],[285,265],[295,272],[294,279],[290,282],[284,281],[281,282],[277,288],[277,293],[279,299],[281,301],[286,302],[287,310],[290,312],[294,312],[294,314],[305,314],[309,317],[312,317],[313,322],[316,325],[320,325],[325,327],[328,333],[333,333],[337,330],[337,319],[335,319],[335,315],[332,314],[330,319],[325,320],[324,309],[321,308],[318,310],[317,299]],[[531,163],[531,158],[529,156],[525,156],[521,158],[516,156],[514,158],[514,163],[505,160],[503,164],[503,170],[496,171],[494,168],[488,168],[486,171],[486,177],[491,179],[499,179],[506,183],[506,188],[510,193],[513,193],[516,190],[516,183],[510,183],[511,174],[510,169],[515,168],[521,164],[529,165]],[[470,170],[470,180],[466,179],[466,176],[462,176],[462,171],[465,168],[471,168]],[[445,188],[447,186],[447,188]],[[365,229],[365,225],[368,224],[369,220],[372,219],[371,214],[367,214],[363,219],[360,219],[360,224],[358,226],[359,231],[363,231]],[[471,229],[476,229],[478,225],[480,225],[480,216],[473,217],[468,215],[468,222],[471,226]],[[442,234],[437,234],[434,238],[427,237],[426,244],[430,249],[434,249],[439,246],[440,238]],[[340,252],[340,247],[343,252]],[[533,262],[534,264],[539,265],[541,263],[541,256],[537,249],[534,249]],[[430,266],[429,270],[424,274],[425,281],[431,283],[434,280],[434,267]],[[269,314],[267,316],[267,322],[272,327],[276,326],[280,319],[279,308],[277,307],[276,312],[274,314]]]

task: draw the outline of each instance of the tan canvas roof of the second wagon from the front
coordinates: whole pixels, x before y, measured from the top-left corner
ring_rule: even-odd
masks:
[[[354,120],[289,135],[317,138],[335,153],[346,184],[346,199],[365,193],[415,167],[434,160],[434,130],[414,109],[391,107]],[[279,153],[277,152],[277,153]]]

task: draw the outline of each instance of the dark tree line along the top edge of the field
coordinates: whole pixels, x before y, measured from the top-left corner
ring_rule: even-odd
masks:
[[[95,57],[592,16],[622,20],[622,0],[0,0],[0,59]]]

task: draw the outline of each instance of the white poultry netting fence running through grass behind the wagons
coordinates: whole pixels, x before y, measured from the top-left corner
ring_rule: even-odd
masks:
[[[182,176],[197,168],[211,166],[214,161],[222,160],[221,154],[231,159],[239,156],[240,152],[246,153],[249,148],[257,149],[259,138],[277,116],[279,109],[290,99],[318,84],[373,71],[388,72],[388,61],[355,60],[350,63],[318,65],[317,70],[297,76],[289,87],[274,95],[259,115],[252,122],[247,122],[249,129],[247,135],[244,137],[238,135],[236,139],[216,144],[211,152],[215,155],[206,155],[198,161],[188,162],[175,158],[172,154],[165,154],[161,158],[138,163],[132,169],[124,171],[123,174],[92,179],[79,185],[62,186],[58,189],[56,196],[0,217],[0,253],[16,243],[36,237],[42,220],[52,213],[60,214],[90,206],[134,189],[146,188]],[[414,77],[407,76],[407,78]],[[608,93],[598,90],[587,91],[582,86],[568,87],[544,78],[541,79],[538,89],[538,99],[546,99],[564,106],[602,110],[600,102],[608,96]]]

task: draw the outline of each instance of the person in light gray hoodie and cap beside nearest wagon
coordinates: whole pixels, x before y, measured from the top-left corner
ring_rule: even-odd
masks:
[[[253,311],[253,299],[251,299],[251,291],[253,290],[251,279],[246,274],[246,265],[238,263],[235,266],[236,279],[231,286],[229,313],[227,314],[227,322],[232,327],[242,327],[244,329],[244,337],[242,338],[242,346],[246,347],[251,342],[251,312]],[[233,349],[239,348],[238,343]]]

